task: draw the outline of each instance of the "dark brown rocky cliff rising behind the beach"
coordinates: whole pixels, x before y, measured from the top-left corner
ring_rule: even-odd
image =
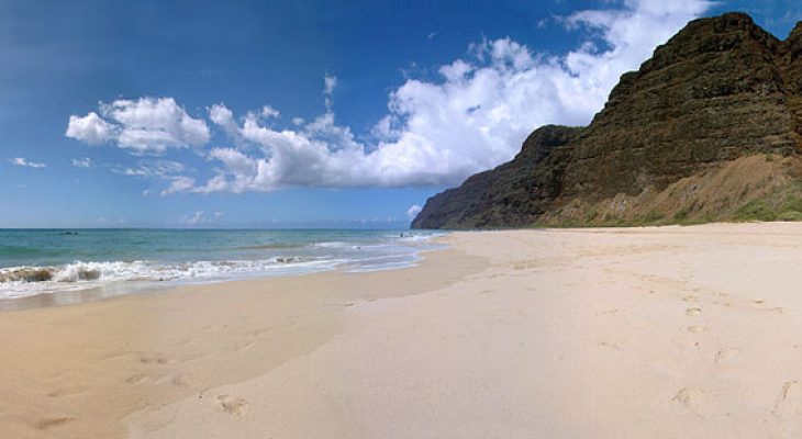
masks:
[[[589,126],[536,130],[512,161],[431,198],[412,226],[731,219],[760,202],[776,216],[797,196],[800,153],[802,23],[781,42],[727,13],[688,23],[623,75]],[[762,180],[744,165],[755,155]]]

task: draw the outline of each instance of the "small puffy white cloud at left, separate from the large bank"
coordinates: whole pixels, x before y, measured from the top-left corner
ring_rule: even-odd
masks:
[[[113,142],[135,154],[163,154],[170,147],[207,144],[209,127],[172,98],[140,98],[101,103],[100,115],[70,116],[66,135],[90,145]]]

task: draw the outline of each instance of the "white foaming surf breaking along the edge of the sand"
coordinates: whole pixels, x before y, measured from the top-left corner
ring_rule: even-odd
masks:
[[[123,230],[124,233],[124,230]],[[224,234],[226,232],[220,232]],[[142,234],[142,233],[140,233]],[[274,235],[276,233],[272,233]],[[299,239],[298,232],[287,232],[287,239]],[[174,256],[169,261],[75,260],[60,264],[27,264],[0,268],[0,299],[13,299],[59,291],[78,291],[109,285],[147,285],[211,282],[252,277],[291,275],[344,268],[346,271],[378,271],[414,266],[417,252],[432,248],[431,238],[441,234],[405,235],[401,233],[319,233],[302,244],[224,245],[221,249],[199,249]],[[345,235],[345,236],[344,236]],[[223,240],[226,236],[219,237]],[[236,238],[236,235],[234,236]],[[76,236],[69,236],[77,239]],[[331,239],[335,238],[335,239]],[[141,243],[140,238],[136,243]],[[294,243],[294,241],[293,241]],[[69,243],[71,244],[71,241]],[[242,243],[237,243],[242,244]],[[133,246],[132,246],[133,247]],[[158,255],[163,243],[154,244]],[[136,254],[125,248],[126,256]],[[122,251],[120,251],[122,252]],[[142,251],[140,251],[142,252]],[[143,252],[145,254],[145,252]],[[235,256],[219,260],[180,260],[213,254]],[[113,252],[112,252],[113,255]]]

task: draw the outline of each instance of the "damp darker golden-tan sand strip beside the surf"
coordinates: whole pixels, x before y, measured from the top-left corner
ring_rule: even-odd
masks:
[[[443,270],[446,260],[457,266]],[[179,285],[0,312],[0,431],[127,437],[122,419],[137,410],[314,350],[343,330],[342,313],[355,301],[422,293],[479,267],[446,248],[406,269]]]

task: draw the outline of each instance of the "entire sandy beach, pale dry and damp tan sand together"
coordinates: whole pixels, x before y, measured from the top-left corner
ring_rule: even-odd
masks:
[[[447,240],[0,313],[0,437],[802,436],[802,224]]]

